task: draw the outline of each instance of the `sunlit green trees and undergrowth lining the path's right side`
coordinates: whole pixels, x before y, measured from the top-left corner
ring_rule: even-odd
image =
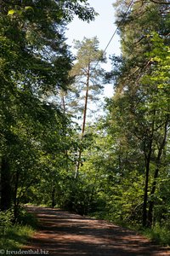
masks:
[[[119,21],[127,4],[117,4]],[[84,149],[79,166],[75,198],[81,198],[85,212],[168,228],[168,23],[167,5],[139,1],[120,26],[122,55],[112,56],[113,68],[106,75],[115,93],[107,99],[105,118],[87,126],[93,143]]]

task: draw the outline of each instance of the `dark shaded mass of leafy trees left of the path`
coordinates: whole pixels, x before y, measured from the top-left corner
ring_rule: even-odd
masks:
[[[95,13],[87,1],[15,2],[0,3],[0,208],[14,205],[16,217],[48,160],[69,147],[69,121],[50,99],[71,82],[65,25]]]

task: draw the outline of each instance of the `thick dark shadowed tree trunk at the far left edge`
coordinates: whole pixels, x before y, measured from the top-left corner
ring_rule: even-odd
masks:
[[[10,207],[11,207],[10,169],[9,169],[8,159],[6,157],[2,157],[0,208],[2,211],[5,211],[5,210],[8,210]]]

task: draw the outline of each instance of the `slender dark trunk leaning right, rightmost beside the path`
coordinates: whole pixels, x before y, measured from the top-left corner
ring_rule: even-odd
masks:
[[[159,171],[160,171],[160,165],[161,165],[161,155],[163,153],[163,149],[165,148],[166,142],[167,142],[167,124],[168,124],[168,119],[169,116],[167,116],[167,120],[164,126],[164,136],[157,154],[157,159],[156,159],[156,171],[154,174],[154,181],[152,183],[152,189],[151,189],[151,193],[150,193],[150,197],[151,197],[151,201],[149,203],[149,210],[148,210],[148,226],[151,227],[153,224],[153,210],[154,210],[154,204],[155,201],[153,199],[153,195],[155,195],[156,192],[156,179],[159,175]]]

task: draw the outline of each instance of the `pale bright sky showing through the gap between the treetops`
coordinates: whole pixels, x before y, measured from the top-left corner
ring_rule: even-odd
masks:
[[[111,36],[116,30],[116,25],[114,24],[115,10],[112,6],[114,0],[88,0],[88,3],[94,7],[95,11],[99,13],[99,15],[90,23],[75,18],[68,26],[68,31],[65,34],[66,38],[68,38],[67,43],[72,45],[74,39],[82,41],[84,37],[93,38],[97,36],[99,39],[99,49],[105,49],[111,39]],[[109,55],[113,54],[120,54],[119,37],[117,35],[113,38],[111,44],[106,50],[106,56],[108,59]],[[111,64],[108,62],[104,68],[107,71],[110,70]],[[112,95],[113,85],[105,84],[104,96],[110,97]]]

